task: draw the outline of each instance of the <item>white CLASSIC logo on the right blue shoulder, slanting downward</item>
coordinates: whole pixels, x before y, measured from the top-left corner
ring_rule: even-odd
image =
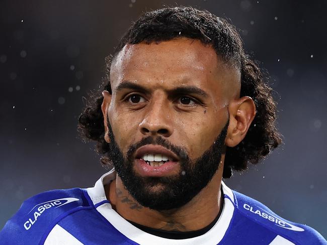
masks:
[[[290,224],[290,223],[287,223],[286,221],[281,220],[280,218],[274,216],[271,213],[268,213],[267,211],[263,210],[262,208],[259,208],[261,210],[255,209],[255,208],[253,208],[252,206],[250,206],[247,203],[244,203],[243,208],[250,211],[250,212],[252,212],[252,213],[254,213],[254,214],[259,215],[262,218],[265,218],[265,219],[273,222],[275,225],[277,225],[279,227],[282,227],[284,229],[289,229],[289,230],[294,230],[294,231],[304,231],[303,228],[295,226],[295,225]]]

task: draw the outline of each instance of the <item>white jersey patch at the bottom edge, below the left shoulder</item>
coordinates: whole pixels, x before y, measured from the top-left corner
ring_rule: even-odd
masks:
[[[56,224],[45,239],[44,245],[83,245],[67,230]]]

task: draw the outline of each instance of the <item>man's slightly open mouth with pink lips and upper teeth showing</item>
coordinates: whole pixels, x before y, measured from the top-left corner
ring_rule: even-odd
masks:
[[[135,167],[141,176],[161,177],[176,174],[179,157],[158,145],[140,147],[135,153]]]

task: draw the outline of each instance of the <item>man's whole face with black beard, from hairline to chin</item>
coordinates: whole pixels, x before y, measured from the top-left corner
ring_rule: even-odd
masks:
[[[217,171],[239,74],[181,38],[126,45],[110,78],[106,140],[119,177],[144,206],[184,205]]]

